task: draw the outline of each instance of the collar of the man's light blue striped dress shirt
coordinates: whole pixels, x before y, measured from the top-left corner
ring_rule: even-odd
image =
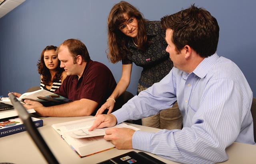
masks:
[[[193,73],[200,77],[204,78],[208,71],[212,68],[212,66],[215,64],[216,60],[218,60],[219,56],[217,53],[213,54],[212,56],[209,56],[207,58],[204,58],[200,64],[196,67],[196,69],[193,71]]]

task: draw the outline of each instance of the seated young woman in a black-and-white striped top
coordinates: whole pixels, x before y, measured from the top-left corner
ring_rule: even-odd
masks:
[[[50,92],[58,90],[67,76],[64,69],[60,68],[60,60],[55,53],[56,49],[56,46],[46,46],[37,63],[38,73],[41,75],[40,88]]]

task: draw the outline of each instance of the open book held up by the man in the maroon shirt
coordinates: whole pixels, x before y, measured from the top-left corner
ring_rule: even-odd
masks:
[[[71,100],[67,98],[64,98],[62,96],[59,96],[58,94],[54,94],[44,89],[36,90],[34,92],[27,92],[19,97],[19,100],[22,102],[24,102],[24,100],[26,99],[38,101],[43,104],[43,106],[54,106],[64,104],[66,102],[71,102]]]

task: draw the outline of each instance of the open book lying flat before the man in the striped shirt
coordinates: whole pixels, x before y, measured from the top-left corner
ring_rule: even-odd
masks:
[[[78,156],[89,156],[115,147],[110,141],[104,140],[105,130],[107,128],[88,132],[88,129],[92,126],[95,119],[96,117],[91,117],[82,120],[53,124],[52,128],[66,140]],[[131,128],[133,130],[140,130],[139,128],[124,123],[111,128]]]

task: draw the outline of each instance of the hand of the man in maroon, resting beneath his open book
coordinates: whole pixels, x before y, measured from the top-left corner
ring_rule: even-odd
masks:
[[[34,109],[40,116],[47,116],[47,110],[40,102],[32,100],[24,100],[24,102],[26,104],[23,106],[26,109]]]

